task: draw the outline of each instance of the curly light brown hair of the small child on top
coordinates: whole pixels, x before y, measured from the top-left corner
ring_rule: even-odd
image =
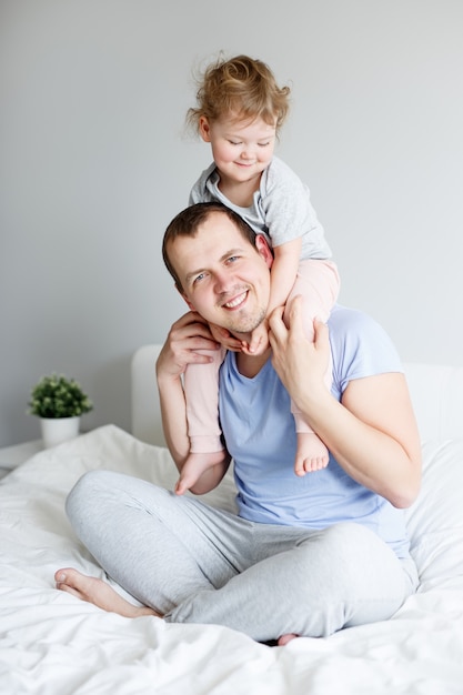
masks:
[[[261,118],[276,132],[290,108],[290,88],[280,88],[270,68],[261,60],[236,56],[220,58],[198,80],[197,103],[187,112],[187,124],[199,132],[201,117],[210,122],[223,117],[250,121]]]

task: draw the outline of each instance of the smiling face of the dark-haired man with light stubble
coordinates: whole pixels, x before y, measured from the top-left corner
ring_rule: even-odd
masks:
[[[194,236],[168,246],[191,310],[232,333],[246,334],[265,318],[272,254],[262,236],[253,246],[222,212],[212,212]]]

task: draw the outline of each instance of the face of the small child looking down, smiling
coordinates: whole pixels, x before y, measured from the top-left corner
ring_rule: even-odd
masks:
[[[223,118],[210,122],[200,118],[200,133],[210,142],[212,157],[221,179],[232,183],[260,179],[270,164],[276,139],[276,119],[273,125],[258,118],[240,121]]]

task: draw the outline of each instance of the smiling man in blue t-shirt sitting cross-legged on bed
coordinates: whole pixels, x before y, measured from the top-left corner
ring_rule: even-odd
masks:
[[[191,309],[157,365],[165,437],[181,472],[189,453],[182,374],[218,348],[207,322],[245,342],[264,320],[272,253],[235,213],[204,203],[171,222],[164,258]],[[417,494],[421,453],[397,355],[375,322],[342,308],[329,328],[315,324],[311,343],[302,311],[296,300],[289,328],[283,310],[273,312],[271,349],[229,352],[221,367],[228,455],[192,491],[217,486],[232,457],[239,515],[144,481],[89,473],[68,500],[74,530],[143,606],[74,570],[57,572],[59,588],[123,615],[218,623],[280,645],[386,620],[402,605],[416,573],[401,507]],[[292,466],[290,399],[331,454],[326,469],[303,477]]]

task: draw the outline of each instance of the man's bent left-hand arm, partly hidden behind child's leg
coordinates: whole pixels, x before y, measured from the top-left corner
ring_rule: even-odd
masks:
[[[157,361],[157,379],[161,403],[162,426],[172,459],[179,470],[190,453],[187,426],[187,409],[182,374],[188,364],[207,364],[209,357],[198,350],[219,348],[211,338],[208,324],[199,314],[188,312],[175,321]],[[191,488],[194,494],[204,494],[217,487],[224,476],[230,457],[207,471]]]

